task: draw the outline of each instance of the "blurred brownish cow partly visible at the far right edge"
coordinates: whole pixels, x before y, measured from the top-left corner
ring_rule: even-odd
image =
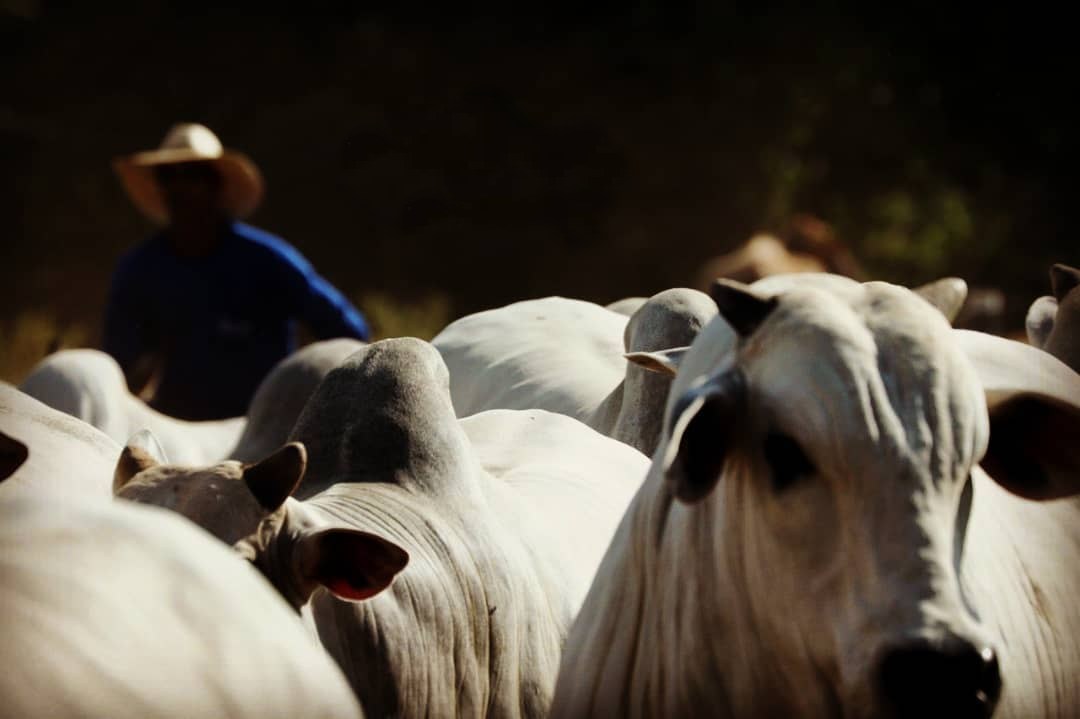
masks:
[[[1080,270],[1067,264],[1050,269],[1053,295],[1028,308],[1027,339],[1080,371]]]

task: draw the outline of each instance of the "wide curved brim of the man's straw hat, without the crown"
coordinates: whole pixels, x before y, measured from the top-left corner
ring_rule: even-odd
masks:
[[[232,217],[247,217],[262,200],[262,174],[242,152],[226,150],[218,157],[206,157],[187,148],[150,150],[117,158],[112,166],[138,211],[159,225],[167,225],[168,207],[153,171],[180,162],[214,165],[221,176],[221,209]]]

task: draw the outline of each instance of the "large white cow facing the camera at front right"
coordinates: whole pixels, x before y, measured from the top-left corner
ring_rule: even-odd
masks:
[[[1080,716],[1080,377],[880,282],[713,296],[552,716]]]

